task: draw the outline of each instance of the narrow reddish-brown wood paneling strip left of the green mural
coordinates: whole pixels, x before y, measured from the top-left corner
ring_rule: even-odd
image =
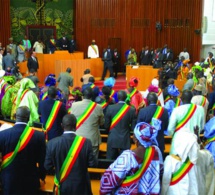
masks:
[[[11,36],[10,1],[0,0],[0,8],[0,42],[6,47]]]

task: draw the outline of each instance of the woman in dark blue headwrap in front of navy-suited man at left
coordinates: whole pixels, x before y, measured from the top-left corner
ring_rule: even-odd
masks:
[[[48,88],[50,86],[55,86],[56,85],[56,79],[55,79],[55,75],[54,74],[49,74],[46,78],[45,78],[45,86],[41,88],[40,91],[40,101],[41,100],[46,100],[48,99]],[[60,90],[58,89],[58,94],[57,94],[57,100],[62,100],[63,96],[60,92]]]

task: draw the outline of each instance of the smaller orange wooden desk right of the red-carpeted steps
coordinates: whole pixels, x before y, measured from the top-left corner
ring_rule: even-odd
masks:
[[[137,89],[140,91],[145,91],[153,78],[157,78],[158,76],[158,69],[152,68],[152,66],[139,66],[138,68],[133,68],[133,66],[126,66],[126,79],[127,79],[127,86],[129,80],[132,77],[139,78],[139,84]]]

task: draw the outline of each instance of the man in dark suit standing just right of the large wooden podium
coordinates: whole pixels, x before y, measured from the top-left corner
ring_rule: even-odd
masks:
[[[108,48],[103,52],[103,58],[102,60],[104,61],[104,70],[102,73],[102,79],[104,80],[107,70],[110,71],[110,77],[113,77],[113,54],[112,51],[110,49],[110,46],[108,46]]]

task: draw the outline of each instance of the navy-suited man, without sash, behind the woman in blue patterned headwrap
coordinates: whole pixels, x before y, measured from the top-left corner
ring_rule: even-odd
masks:
[[[150,123],[152,120],[152,117],[157,109],[157,100],[158,97],[155,93],[151,92],[148,94],[147,96],[147,101],[148,101],[148,105],[145,108],[142,108],[138,114],[137,117],[137,123],[139,122],[146,122],[146,123]],[[158,131],[158,135],[157,135],[157,141],[158,141],[158,146],[164,156],[164,130],[167,129],[168,126],[168,112],[166,109],[164,109],[163,114],[160,117],[161,120],[161,130]]]

